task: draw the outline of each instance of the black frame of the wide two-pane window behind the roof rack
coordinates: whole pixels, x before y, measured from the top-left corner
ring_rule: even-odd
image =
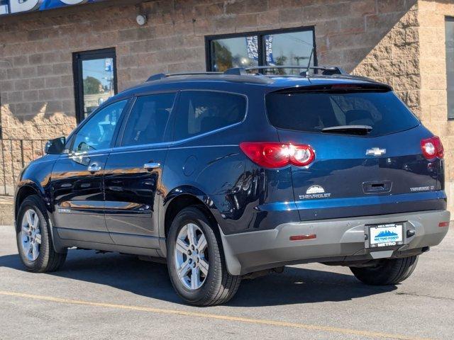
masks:
[[[205,35],[205,60],[206,60],[206,71],[212,72],[212,51],[211,51],[211,42],[213,40],[219,39],[228,39],[228,38],[245,38],[250,37],[251,35],[257,35],[258,37],[258,66],[267,66],[266,64],[266,52],[265,52],[265,35],[270,34],[282,34],[282,33],[295,33],[295,32],[306,32],[312,31],[312,41],[314,42],[314,53],[312,55],[312,60],[314,60],[314,66],[318,65],[317,62],[317,47],[316,47],[316,36],[315,36],[315,26],[300,26],[293,28],[279,28],[275,30],[253,30],[250,32],[241,32],[241,33],[227,33],[227,34],[217,34],[217,35]]]

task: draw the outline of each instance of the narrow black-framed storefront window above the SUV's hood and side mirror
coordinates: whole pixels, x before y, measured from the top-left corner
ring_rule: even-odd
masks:
[[[115,50],[74,53],[78,122],[116,94]]]

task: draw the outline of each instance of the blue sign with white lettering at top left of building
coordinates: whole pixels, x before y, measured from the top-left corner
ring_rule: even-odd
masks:
[[[65,6],[89,4],[105,0],[0,0],[0,16]]]

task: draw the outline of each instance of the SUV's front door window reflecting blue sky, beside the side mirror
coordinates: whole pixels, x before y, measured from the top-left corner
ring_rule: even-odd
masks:
[[[88,152],[109,148],[116,124],[127,102],[117,101],[96,112],[77,132],[72,151]]]

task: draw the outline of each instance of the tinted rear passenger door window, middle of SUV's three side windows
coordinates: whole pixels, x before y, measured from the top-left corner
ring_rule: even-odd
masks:
[[[162,142],[174,101],[175,94],[138,97],[129,115],[121,145]]]

